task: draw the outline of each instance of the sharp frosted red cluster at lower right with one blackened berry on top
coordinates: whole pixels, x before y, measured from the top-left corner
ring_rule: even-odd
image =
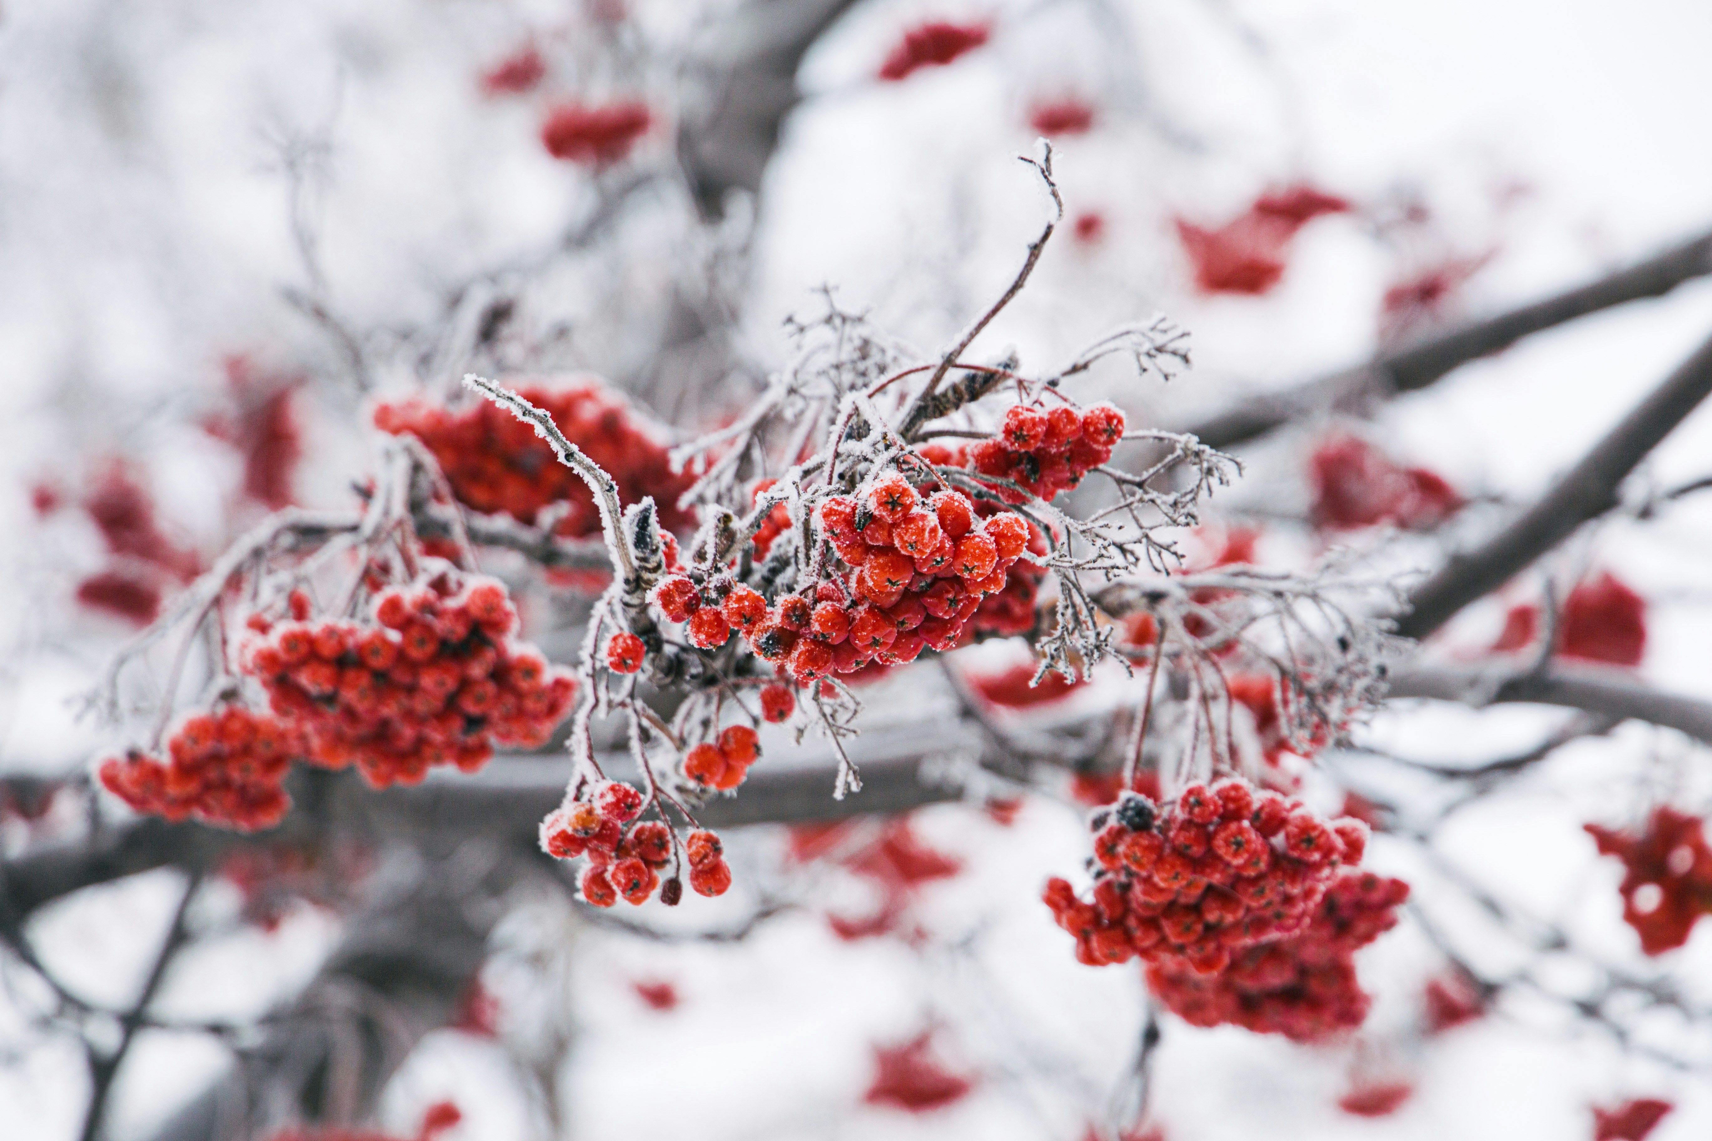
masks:
[[[1077,960],[1101,967],[1140,956],[1202,975],[1226,970],[1243,948],[1301,931],[1368,840],[1358,819],[1323,821],[1236,778],[1193,783],[1162,811],[1125,794],[1094,814],[1092,828],[1092,900],[1063,879],[1049,881],[1044,896],[1077,937]]]

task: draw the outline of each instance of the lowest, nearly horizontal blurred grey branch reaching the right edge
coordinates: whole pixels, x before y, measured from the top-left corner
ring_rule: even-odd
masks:
[[[1661,693],[1620,671],[1553,665],[1543,674],[1495,677],[1488,671],[1471,667],[1419,665],[1392,677],[1390,696],[1476,706],[1491,701],[1561,705],[1594,715],[1652,722],[1712,744],[1712,701]]]

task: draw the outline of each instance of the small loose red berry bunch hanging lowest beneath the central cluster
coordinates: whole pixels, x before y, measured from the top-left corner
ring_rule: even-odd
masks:
[[[639,819],[647,807],[647,797],[633,785],[587,783],[541,821],[541,850],[562,860],[589,860],[577,883],[594,907],[611,907],[618,896],[640,905],[656,890],[661,903],[676,905],[683,881],[676,871],[664,881],[659,874],[668,864],[676,869],[678,838],[664,821]],[[712,831],[685,837],[681,862],[690,866],[690,888],[698,895],[724,895],[731,886],[724,845]]]

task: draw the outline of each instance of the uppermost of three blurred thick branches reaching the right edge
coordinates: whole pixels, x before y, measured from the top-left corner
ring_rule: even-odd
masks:
[[[1366,364],[1296,388],[1251,397],[1241,407],[1221,412],[1192,431],[1209,446],[1229,448],[1315,412],[1347,411],[1373,397],[1416,392],[1522,337],[1618,304],[1662,296],[1685,281],[1707,274],[1712,274],[1712,233],[1554,298],[1423,337],[1407,347],[1382,352]]]

